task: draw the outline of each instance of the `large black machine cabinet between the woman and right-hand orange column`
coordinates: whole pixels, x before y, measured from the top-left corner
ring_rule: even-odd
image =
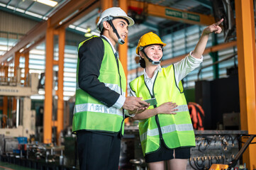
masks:
[[[199,69],[195,85],[195,102],[203,108],[205,130],[240,130],[240,97],[238,67],[226,69],[227,77],[213,80],[199,80],[202,69],[220,62],[234,59],[236,53],[223,60],[213,62]]]

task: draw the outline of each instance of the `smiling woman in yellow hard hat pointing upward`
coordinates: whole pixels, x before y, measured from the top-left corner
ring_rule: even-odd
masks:
[[[211,33],[221,33],[218,21],[204,29],[194,51],[183,60],[162,68],[160,62],[165,43],[155,34],[143,35],[136,48],[144,74],[130,82],[130,96],[156,103],[136,114],[140,120],[140,142],[150,170],[184,170],[190,157],[190,147],[195,146],[194,129],[191,124],[187,101],[183,93],[182,79],[203,61],[202,54]]]

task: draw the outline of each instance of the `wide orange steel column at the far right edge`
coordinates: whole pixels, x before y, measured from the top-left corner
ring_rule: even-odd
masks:
[[[252,0],[235,0],[235,19],[238,43],[241,130],[248,130],[249,134],[256,134],[255,21]],[[243,154],[243,162],[249,169],[256,168],[255,153],[256,145],[249,145]]]

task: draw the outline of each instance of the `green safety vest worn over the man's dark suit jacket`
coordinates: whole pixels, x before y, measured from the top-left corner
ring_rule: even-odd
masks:
[[[91,38],[95,38],[93,36]],[[87,39],[88,40],[88,39]],[[87,41],[85,40],[85,41]],[[99,70],[99,81],[103,82],[109,89],[125,96],[126,94],[126,75],[123,71],[120,60],[113,54],[111,45],[104,39],[104,57]],[[81,47],[84,42],[79,44]],[[78,47],[78,49],[79,49]],[[117,64],[118,63],[118,64]],[[77,82],[78,82],[79,57],[77,59]],[[121,92],[122,91],[122,92]],[[72,132],[77,130],[90,130],[99,132],[120,132],[124,130],[123,109],[115,107],[108,108],[96,98],[79,89],[75,96],[74,116],[72,123]]]

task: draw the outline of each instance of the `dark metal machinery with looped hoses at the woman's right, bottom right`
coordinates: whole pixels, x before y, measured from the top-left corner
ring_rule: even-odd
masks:
[[[245,130],[196,130],[196,147],[191,148],[187,169],[210,169],[213,164],[228,164],[240,150]],[[234,166],[238,167],[238,164]]]

